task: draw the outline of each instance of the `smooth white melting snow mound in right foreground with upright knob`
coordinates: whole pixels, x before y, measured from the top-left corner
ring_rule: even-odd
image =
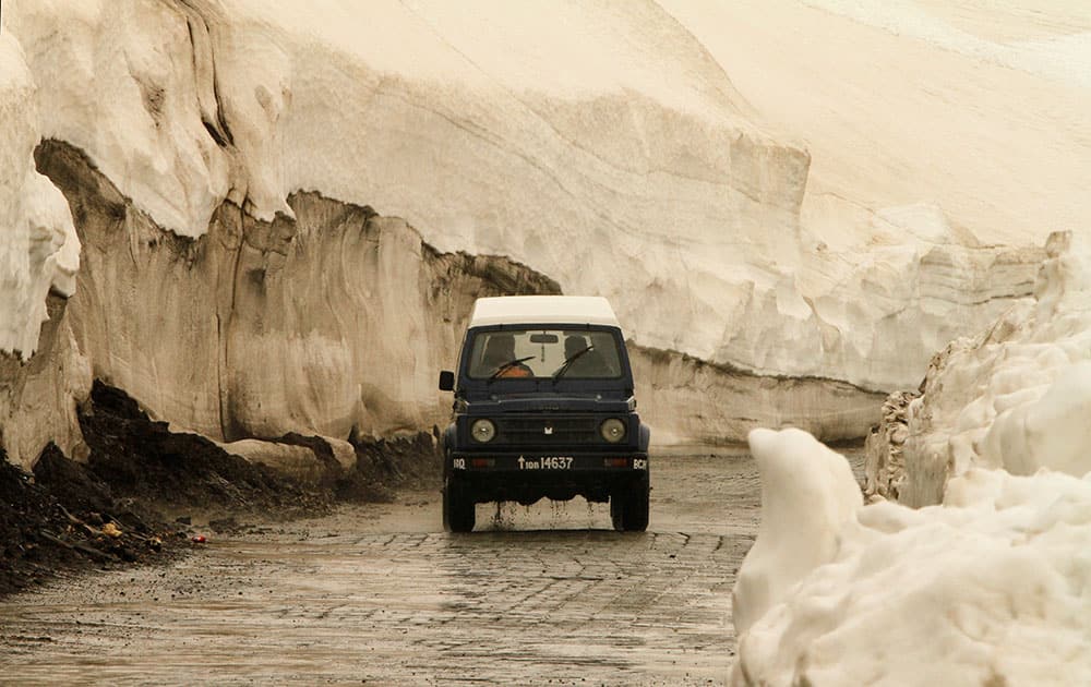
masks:
[[[1091,478],[974,469],[943,506],[858,509],[848,463],[788,432],[751,437],[732,684],[1091,684]]]

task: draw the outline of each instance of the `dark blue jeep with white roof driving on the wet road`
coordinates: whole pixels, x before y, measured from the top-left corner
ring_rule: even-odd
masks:
[[[546,497],[610,502],[619,531],[648,527],[650,430],[625,338],[604,298],[511,296],[473,305],[443,434],[443,527],[469,532],[475,505]]]

